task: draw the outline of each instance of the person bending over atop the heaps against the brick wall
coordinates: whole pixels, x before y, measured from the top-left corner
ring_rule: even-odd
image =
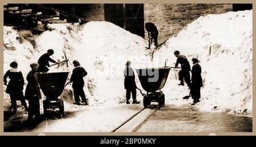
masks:
[[[146,23],[145,28],[148,32],[148,37],[151,37],[151,42],[152,39],[154,39],[155,47],[158,47],[158,28],[156,28],[155,24],[153,23]]]

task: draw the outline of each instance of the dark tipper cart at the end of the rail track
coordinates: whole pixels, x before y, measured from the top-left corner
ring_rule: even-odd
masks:
[[[165,97],[162,88],[166,84],[171,67],[141,68],[135,69],[142,88],[147,94],[143,97],[143,106],[148,107],[151,102],[158,102],[158,106],[164,106]]]

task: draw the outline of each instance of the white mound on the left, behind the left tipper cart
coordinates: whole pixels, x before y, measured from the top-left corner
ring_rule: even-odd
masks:
[[[52,48],[55,54],[51,58],[63,60],[65,53],[69,67],[62,64],[59,68],[51,67],[49,72],[72,73],[73,60],[79,60],[88,72],[84,90],[89,103],[118,103],[125,100],[126,61],[131,60],[133,68],[145,67],[147,60],[150,61],[145,51],[147,41],[112,23],[92,21],[83,26],[51,24],[48,27],[51,31],[34,36],[32,41],[30,32],[18,33],[12,27],[4,27],[4,72],[10,68],[11,61],[17,60],[26,77],[30,63],[37,62],[40,55]],[[66,88],[72,89],[71,84]]]

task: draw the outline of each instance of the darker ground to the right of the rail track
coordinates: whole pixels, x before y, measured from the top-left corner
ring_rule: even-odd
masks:
[[[134,132],[252,132],[253,118],[209,113],[191,105],[166,105],[155,111]]]

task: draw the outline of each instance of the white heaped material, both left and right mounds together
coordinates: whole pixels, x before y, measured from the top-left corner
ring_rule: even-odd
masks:
[[[193,57],[199,58],[204,87],[197,107],[251,114],[252,18],[252,11],[201,16],[154,53],[155,65],[163,67],[168,59],[167,63],[172,66],[176,62],[175,50],[186,55],[190,62]],[[63,60],[65,53],[70,61],[69,67],[63,64],[60,68],[51,67],[49,72],[72,72],[72,61],[77,59],[88,71],[84,90],[89,103],[118,103],[125,100],[122,71],[126,60],[131,60],[133,68],[152,66],[151,57],[145,51],[147,41],[112,23],[52,24],[49,29],[52,31],[33,36],[28,31],[17,32],[12,27],[4,27],[4,72],[10,68],[11,61],[17,60],[26,77],[29,64],[37,62],[40,55],[52,48],[55,50],[53,59]],[[167,103],[188,104],[182,98],[189,90],[177,86],[178,71],[170,71],[162,90]],[[138,76],[136,78],[141,88]],[[67,89],[71,90],[71,85]]]

